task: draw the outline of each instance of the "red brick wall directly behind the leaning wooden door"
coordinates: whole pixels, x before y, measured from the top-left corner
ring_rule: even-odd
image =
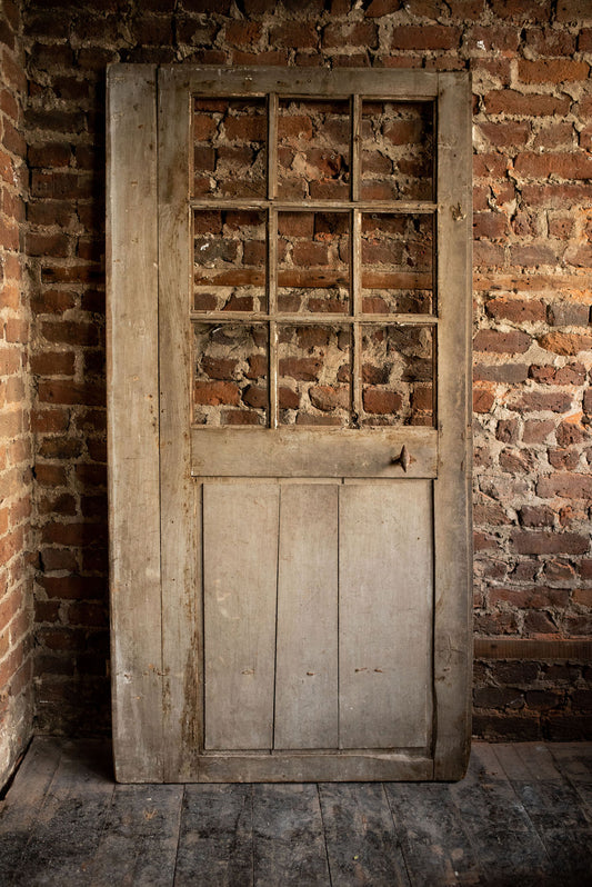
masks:
[[[589,0],[24,8],[39,728],[108,727],[103,119],[111,61],[472,72],[475,630],[590,638]],[[475,729],[581,735],[590,677],[582,662],[483,659]]]

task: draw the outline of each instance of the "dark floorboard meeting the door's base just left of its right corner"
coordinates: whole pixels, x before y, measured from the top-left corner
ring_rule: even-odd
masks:
[[[442,784],[385,785],[413,887],[479,884],[479,867],[450,791]]]

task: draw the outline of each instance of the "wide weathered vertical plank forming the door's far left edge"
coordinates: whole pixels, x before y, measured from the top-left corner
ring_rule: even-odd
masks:
[[[142,158],[141,165],[138,158]],[[116,774],[162,778],[157,82],[108,71],[107,407]]]

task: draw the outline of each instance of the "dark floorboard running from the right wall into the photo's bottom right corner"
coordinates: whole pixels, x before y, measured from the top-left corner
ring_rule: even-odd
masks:
[[[562,885],[592,884],[592,823],[548,748],[534,743],[494,747]]]

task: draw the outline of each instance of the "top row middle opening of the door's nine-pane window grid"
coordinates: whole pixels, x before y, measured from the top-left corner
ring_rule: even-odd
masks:
[[[349,101],[284,99],[278,108],[278,196],[348,200]]]

